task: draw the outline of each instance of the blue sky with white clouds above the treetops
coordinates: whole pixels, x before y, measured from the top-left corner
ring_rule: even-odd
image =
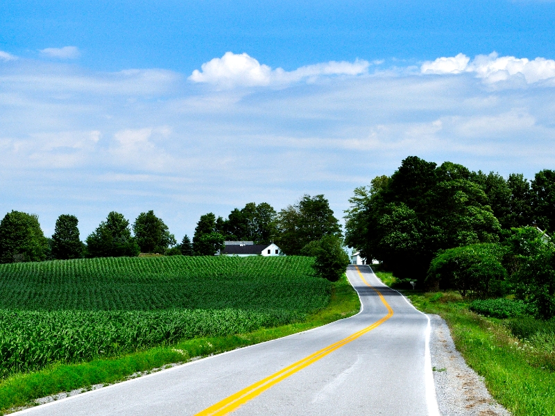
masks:
[[[276,210],[410,155],[554,168],[554,1],[0,3],[0,214]],[[3,215],[3,214],[1,214]]]

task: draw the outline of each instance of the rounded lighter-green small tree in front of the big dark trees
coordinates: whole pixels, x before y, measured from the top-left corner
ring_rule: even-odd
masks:
[[[501,260],[504,248],[495,243],[472,244],[451,248],[430,263],[427,284],[456,288],[463,297],[487,297],[506,278]]]

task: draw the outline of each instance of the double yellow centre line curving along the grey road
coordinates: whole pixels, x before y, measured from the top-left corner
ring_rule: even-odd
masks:
[[[389,304],[386,302],[382,293],[380,293],[375,287],[370,286],[370,284],[368,284],[366,279],[364,279],[364,276],[360,272],[360,269],[358,268],[358,266],[355,266],[355,267],[359,272],[360,278],[362,279],[362,281],[364,281],[364,284],[366,284],[366,286],[369,286],[370,288],[373,288],[373,290],[379,295],[379,299],[386,306],[388,312],[387,312],[387,315],[384,316],[384,318],[374,322],[369,327],[366,327],[364,329],[361,329],[360,331],[353,333],[347,338],[343,338],[342,340],[337,341],[332,345],[328,345],[327,347],[321,349],[320,351],[315,352],[314,354],[311,354],[305,358],[302,358],[302,360],[289,365],[289,367],[285,367],[283,370],[280,370],[272,374],[271,376],[266,377],[265,379],[257,381],[253,385],[249,385],[247,388],[244,388],[243,390],[240,390],[234,395],[231,395],[230,397],[226,397],[225,399],[219,401],[218,403],[213,404],[209,408],[206,408],[202,412],[197,413],[196,416],[227,415],[228,413],[231,413],[232,411],[236,410],[239,406],[246,404],[247,401],[253,399],[254,397],[257,397],[260,393],[264,392],[265,390],[268,390],[268,388],[271,388],[273,385],[279,383],[284,379],[287,379],[287,377],[295,374],[296,372],[302,370],[305,367],[308,367],[309,365],[320,360],[321,358],[324,358],[325,356],[327,356],[327,354],[330,354],[331,352],[334,352],[336,349],[343,347],[343,345],[346,345],[351,341],[356,340],[360,336],[363,336],[365,333],[372,331],[373,329],[379,327],[379,325],[386,322],[386,320],[391,318],[393,316],[393,309],[391,309],[391,306],[389,306]]]

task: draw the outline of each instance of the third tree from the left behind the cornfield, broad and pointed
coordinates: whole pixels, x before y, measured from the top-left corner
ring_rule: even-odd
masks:
[[[89,257],[134,257],[139,252],[139,245],[131,236],[129,221],[115,211],[110,212],[106,220],[87,237]]]

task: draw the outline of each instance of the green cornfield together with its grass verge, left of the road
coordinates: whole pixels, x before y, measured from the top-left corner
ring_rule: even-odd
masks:
[[[0,409],[357,313],[346,278],[331,284],[312,277],[311,261],[162,257],[0,266]]]

